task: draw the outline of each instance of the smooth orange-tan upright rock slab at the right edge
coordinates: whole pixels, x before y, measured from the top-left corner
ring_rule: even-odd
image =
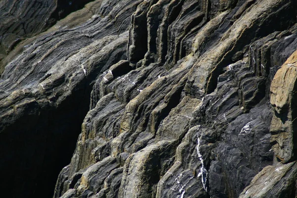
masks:
[[[271,83],[271,104],[275,109],[270,131],[278,160],[287,163],[297,158],[296,90],[297,51],[280,68]]]

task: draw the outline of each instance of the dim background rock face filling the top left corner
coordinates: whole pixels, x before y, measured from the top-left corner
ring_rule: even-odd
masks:
[[[58,20],[67,16],[70,12],[81,9],[90,1],[1,0],[0,72],[2,73],[5,64],[13,59],[15,53],[9,55],[9,52],[16,48],[19,43],[26,43],[28,38],[42,33]]]

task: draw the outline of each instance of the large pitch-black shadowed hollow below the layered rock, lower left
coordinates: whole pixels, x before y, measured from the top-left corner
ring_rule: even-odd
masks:
[[[57,109],[30,104],[16,123],[1,132],[2,195],[52,198],[58,174],[70,163],[81,133],[91,90],[81,83]]]

